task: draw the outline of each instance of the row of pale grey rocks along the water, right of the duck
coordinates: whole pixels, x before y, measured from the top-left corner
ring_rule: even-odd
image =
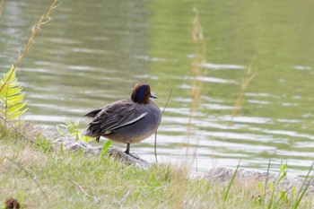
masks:
[[[210,180],[217,183],[225,183],[228,184],[231,181],[235,170],[231,170],[228,168],[214,168],[209,170],[202,178],[206,180]],[[249,187],[252,184],[258,184],[260,181],[263,183],[266,182],[267,173],[263,171],[257,170],[244,170],[239,169],[237,171],[235,181],[243,185],[244,187]],[[275,182],[278,180],[278,174],[268,173],[268,183],[272,182],[275,185]],[[284,179],[280,181],[278,187],[283,189],[284,191],[291,191],[294,186],[297,188],[301,188],[304,179],[301,179],[296,176],[287,175]],[[310,187],[307,192],[314,192],[314,180],[310,182]]]

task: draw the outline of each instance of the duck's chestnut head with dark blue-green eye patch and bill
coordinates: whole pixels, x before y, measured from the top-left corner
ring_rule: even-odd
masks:
[[[147,104],[150,98],[157,98],[151,93],[151,88],[148,84],[136,83],[131,95],[131,99],[134,102],[140,104]]]

